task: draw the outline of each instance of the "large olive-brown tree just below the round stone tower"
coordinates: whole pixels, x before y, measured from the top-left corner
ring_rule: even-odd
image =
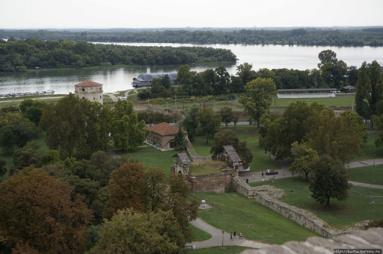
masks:
[[[58,150],[60,156],[66,158],[74,149],[86,156],[108,150],[110,125],[108,106],[70,93],[56,104],[50,103],[43,108],[39,126],[46,131],[48,148]]]

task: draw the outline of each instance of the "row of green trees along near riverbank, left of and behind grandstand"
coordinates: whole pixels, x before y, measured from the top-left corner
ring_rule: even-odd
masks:
[[[319,69],[293,70],[261,68],[252,69],[250,63],[237,66],[236,75],[230,75],[226,68],[219,66],[203,72],[190,71],[189,65],[178,68],[177,83],[183,84],[180,88],[170,85],[167,75],[164,78],[154,78],[152,87],[140,90],[137,97],[169,98],[177,96],[217,96],[219,94],[232,95],[245,93],[245,86],[257,78],[271,78],[277,89],[302,89],[302,88],[342,88],[346,85],[355,86],[358,80],[358,68],[347,66],[338,60],[332,50],[323,50],[318,54]],[[230,98],[230,96],[229,96]]]

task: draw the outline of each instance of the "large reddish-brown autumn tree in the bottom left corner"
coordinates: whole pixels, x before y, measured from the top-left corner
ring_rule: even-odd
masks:
[[[72,193],[67,182],[39,168],[25,168],[1,182],[3,253],[83,253],[92,212]]]

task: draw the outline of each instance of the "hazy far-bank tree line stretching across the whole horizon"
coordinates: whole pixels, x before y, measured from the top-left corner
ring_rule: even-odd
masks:
[[[99,42],[220,43],[220,44],[288,44],[331,46],[383,46],[383,29],[285,31],[242,29],[234,31],[140,31],[140,32],[70,32],[70,31],[0,31],[0,38],[38,38],[42,40],[74,40]]]

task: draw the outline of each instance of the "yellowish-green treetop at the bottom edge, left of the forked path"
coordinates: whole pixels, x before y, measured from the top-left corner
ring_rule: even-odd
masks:
[[[88,254],[176,254],[185,251],[186,239],[171,211],[140,213],[118,210],[105,221],[100,239]]]

